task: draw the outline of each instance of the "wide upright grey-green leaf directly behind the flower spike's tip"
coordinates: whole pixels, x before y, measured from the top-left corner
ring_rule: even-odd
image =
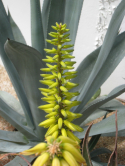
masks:
[[[75,43],[82,4],[83,0],[44,1],[42,9],[42,21],[45,39],[50,39],[48,33],[52,31],[51,25],[54,25],[55,22],[66,23],[67,28],[70,29],[70,39],[72,40],[72,43]],[[47,43],[47,48],[51,48],[49,43]]]

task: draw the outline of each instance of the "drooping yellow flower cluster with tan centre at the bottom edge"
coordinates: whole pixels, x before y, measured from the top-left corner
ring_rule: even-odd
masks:
[[[77,142],[65,136],[59,136],[57,139],[48,136],[47,143],[40,143],[20,154],[39,155],[33,166],[87,166]]]

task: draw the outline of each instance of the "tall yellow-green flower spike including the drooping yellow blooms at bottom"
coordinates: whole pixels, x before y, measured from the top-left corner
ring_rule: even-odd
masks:
[[[79,92],[69,92],[70,89],[78,86],[78,84],[70,82],[70,79],[76,77],[76,71],[68,71],[74,69],[75,61],[68,61],[74,57],[70,55],[73,52],[73,45],[65,43],[71,41],[66,32],[66,24],[58,24],[52,26],[56,32],[49,35],[52,40],[46,40],[54,45],[52,49],[44,49],[47,54],[43,59],[47,68],[41,70],[46,74],[41,74],[42,84],[48,88],[39,88],[45,96],[42,98],[48,104],[41,105],[38,108],[48,113],[46,120],[39,124],[40,127],[48,128],[45,139],[47,143],[40,143],[35,147],[25,150],[20,154],[39,156],[33,166],[86,166],[86,161],[80,154],[80,140],[72,133],[72,131],[81,132],[83,129],[72,123],[76,118],[81,117],[79,113],[72,113],[70,109],[80,104],[79,101],[71,101],[74,96],[78,96]]]

